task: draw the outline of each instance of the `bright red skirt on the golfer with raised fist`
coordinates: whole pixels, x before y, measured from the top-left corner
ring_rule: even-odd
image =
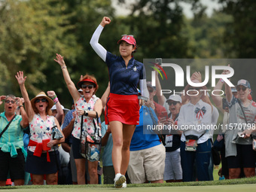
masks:
[[[105,124],[114,120],[128,125],[139,125],[139,99],[137,95],[110,93],[105,107]]]

